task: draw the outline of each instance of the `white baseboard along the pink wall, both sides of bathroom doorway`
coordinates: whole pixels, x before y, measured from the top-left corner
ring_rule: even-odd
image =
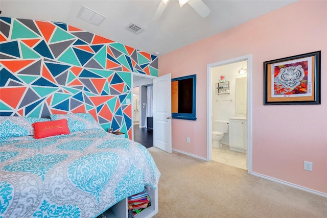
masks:
[[[207,161],[206,158],[198,156],[198,155],[194,155],[194,154],[191,154],[191,153],[188,153],[188,152],[183,152],[183,151],[180,151],[180,150],[177,150],[177,149],[172,149],[172,150],[175,151],[175,152],[181,153],[181,154],[185,154],[185,155],[188,155],[188,156],[191,156],[191,157],[195,157],[195,158]],[[258,174],[258,173],[254,173],[254,172],[251,172],[250,174],[253,175],[253,176],[256,176],[256,177],[267,179],[267,180],[270,180],[270,181],[273,181],[273,182],[276,182],[276,183],[287,185],[287,186],[290,186],[290,187],[293,187],[293,188],[297,188],[297,189],[300,189],[300,190],[303,190],[303,191],[313,193],[314,195],[318,195],[318,196],[327,198],[327,193],[316,191],[316,190],[313,190],[313,189],[310,189],[310,188],[306,188],[306,187],[296,185],[296,184],[293,184],[293,183],[290,183],[290,182],[286,182],[286,181],[283,181],[283,180],[280,180],[280,179],[276,179],[276,178],[273,178],[273,177],[265,176],[263,174]]]

